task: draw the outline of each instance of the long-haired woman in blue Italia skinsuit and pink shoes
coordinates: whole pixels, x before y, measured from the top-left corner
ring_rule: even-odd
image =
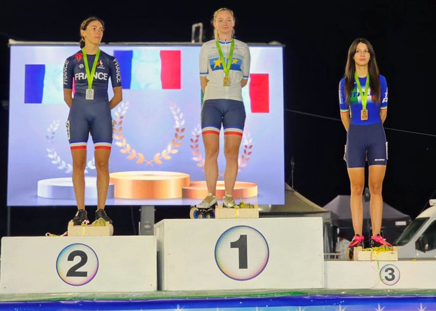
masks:
[[[339,82],[339,107],[347,130],[345,160],[351,184],[351,217],[355,236],[349,247],[363,246],[365,161],[369,165],[371,246],[392,246],[380,236],[382,184],[387,164],[387,141],[383,123],[387,115],[387,83],[379,74],[372,44],[357,38],[350,45],[345,77]]]

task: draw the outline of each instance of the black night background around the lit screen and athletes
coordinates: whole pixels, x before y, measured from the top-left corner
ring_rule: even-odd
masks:
[[[349,45],[355,38],[365,37],[374,46],[380,73],[386,77],[389,90],[385,122],[389,160],[383,199],[412,219],[427,207],[436,190],[433,0],[322,3],[306,0],[280,4],[2,0],[0,236],[7,233],[8,40],[78,41],[81,21],[94,15],[105,21],[103,42],[190,42],[191,26],[197,22],[204,25],[204,41],[212,39],[210,20],[220,7],[234,10],[238,39],[247,43],[279,41],[285,45],[284,184],[293,185],[320,206],[337,195],[350,194],[346,163],[342,159],[346,131],[339,119],[338,82],[343,76]],[[274,146],[269,152],[274,152]],[[264,159],[266,163],[267,153]],[[137,234],[138,206],[108,206],[107,210],[117,222],[115,234]],[[94,211],[89,207],[88,212]],[[62,234],[74,213],[75,207],[12,208],[10,233]],[[156,206],[156,222],[188,217],[187,206]]]

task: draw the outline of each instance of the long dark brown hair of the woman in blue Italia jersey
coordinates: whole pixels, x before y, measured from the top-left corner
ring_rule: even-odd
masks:
[[[370,87],[371,92],[373,93],[371,95],[371,99],[375,103],[380,103],[380,79],[378,77],[379,75],[379,69],[377,65],[376,60],[376,54],[374,52],[373,45],[365,38],[357,38],[351,43],[350,48],[348,49],[348,58],[347,58],[347,64],[345,65],[345,100],[348,105],[350,105],[350,97],[351,92],[354,88],[354,73],[356,71],[356,63],[354,61],[354,55],[356,54],[357,44],[360,42],[366,44],[368,46],[368,51],[370,52],[370,61],[368,63],[368,72],[370,75]]]

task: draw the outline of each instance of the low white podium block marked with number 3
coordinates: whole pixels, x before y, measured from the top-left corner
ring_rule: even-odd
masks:
[[[435,289],[436,260],[325,261],[326,289]]]

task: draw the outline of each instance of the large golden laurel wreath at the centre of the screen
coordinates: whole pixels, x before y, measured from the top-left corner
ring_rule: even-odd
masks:
[[[145,163],[146,166],[152,166],[155,164],[162,164],[162,160],[170,160],[171,154],[175,154],[178,152],[178,147],[181,146],[181,141],[185,138],[183,132],[185,132],[185,119],[183,119],[183,113],[180,112],[180,108],[177,104],[170,102],[170,110],[173,114],[175,121],[175,132],[174,138],[168,143],[166,149],[162,152],[158,152],[154,155],[151,160],[145,158],[144,154],[141,152],[136,152],[135,149],[130,147],[130,144],[127,142],[127,139],[124,138],[123,133],[123,119],[126,116],[127,110],[129,109],[129,102],[121,103],[117,108],[117,111],[114,113],[115,119],[113,122],[113,138],[116,140],[116,145],[121,148],[120,152],[127,154],[127,159],[133,160],[136,159],[136,164]]]

